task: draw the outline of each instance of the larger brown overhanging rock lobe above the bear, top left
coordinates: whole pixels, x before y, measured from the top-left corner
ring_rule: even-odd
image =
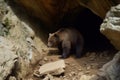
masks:
[[[40,19],[47,26],[56,24],[64,13],[79,4],[70,0],[8,0],[10,3],[21,6],[28,15]]]

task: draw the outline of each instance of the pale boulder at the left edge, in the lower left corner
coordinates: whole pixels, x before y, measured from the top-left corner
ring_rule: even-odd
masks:
[[[15,53],[10,50],[9,45],[11,44],[8,41],[4,44],[5,41],[7,40],[0,37],[0,80],[5,80],[11,74],[18,59]]]

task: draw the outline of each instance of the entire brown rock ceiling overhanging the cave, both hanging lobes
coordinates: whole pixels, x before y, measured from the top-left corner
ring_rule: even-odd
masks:
[[[102,19],[112,5],[119,1],[115,0],[6,0],[13,5],[20,6],[29,16],[36,17],[45,26],[54,27],[64,15],[79,7],[88,8]],[[15,8],[15,7],[14,7]],[[79,9],[79,10],[80,10]]]

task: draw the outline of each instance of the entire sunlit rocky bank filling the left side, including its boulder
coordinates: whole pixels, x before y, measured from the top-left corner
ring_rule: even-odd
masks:
[[[43,58],[46,45],[6,6],[0,22],[0,80],[25,79]]]

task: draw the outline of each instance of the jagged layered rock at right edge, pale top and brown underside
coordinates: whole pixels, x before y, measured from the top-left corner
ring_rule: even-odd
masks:
[[[100,31],[120,50],[120,5],[110,9],[101,24]]]

